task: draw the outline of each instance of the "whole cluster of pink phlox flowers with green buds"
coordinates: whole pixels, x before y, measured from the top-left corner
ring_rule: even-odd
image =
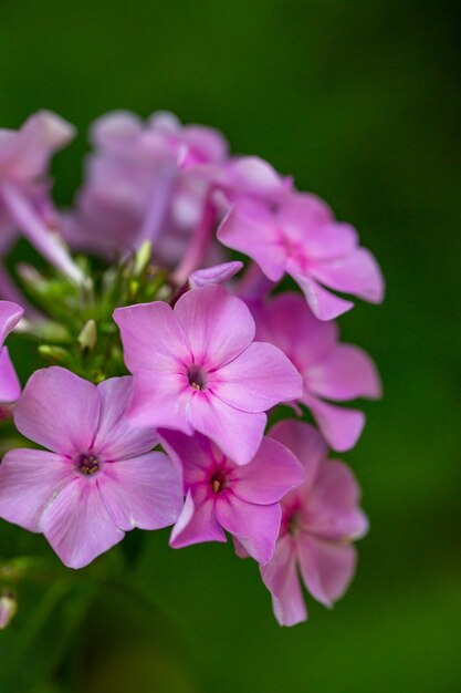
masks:
[[[49,112],[0,131],[0,251],[21,232],[51,266],[0,268],[0,406],[18,439],[0,517],[71,568],[135,527],[171,526],[174,548],[230,535],[279,622],[305,620],[302,583],[331,606],[367,531],[328,447],[349,451],[365,423],[338,403],[380,396],[335,322],[350,297],[383,300],[379,267],[324,201],[168,113],[98,120],[74,208],[59,210],[48,167],[73,134]],[[14,329],[48,365],[22,393]]]

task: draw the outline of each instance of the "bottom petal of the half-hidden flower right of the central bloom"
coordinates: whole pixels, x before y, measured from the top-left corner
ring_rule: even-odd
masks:
[[[326,442],[338,452],[352,449],[365,426],[365,414],[357,410],[335,406],[304,393],[306,404]]]

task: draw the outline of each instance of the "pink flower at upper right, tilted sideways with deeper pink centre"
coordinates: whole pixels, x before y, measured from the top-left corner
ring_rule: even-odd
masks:
[[[384,281],[355,229],[335,221],[317,197],[287,193],[280,204],[242,199],[218,230],[219,240],[255,260],[271,281],[284,273],[300,285],[314,314],[331,320],[354,303],[325,287],[378,303]]]

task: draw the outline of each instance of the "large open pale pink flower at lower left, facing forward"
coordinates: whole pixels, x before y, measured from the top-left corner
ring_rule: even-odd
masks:
[[[125,531],[171,525],[182,506],[175,465],[153,430],[126,418],[130,377],[99,385],[61,368],[36,371],[14,411],[28,438],[0,465],[0,517],[43,532],[63,563],[82,568]],[[52,451],[52,452],[49,452]]]

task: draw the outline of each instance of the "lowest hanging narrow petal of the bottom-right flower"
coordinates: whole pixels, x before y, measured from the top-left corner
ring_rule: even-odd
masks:
[[[307,619],[291,537],[279,539],[273,559],[261,566],[261,577],[272,593],[274,614],[281,625],[295,625]]]

